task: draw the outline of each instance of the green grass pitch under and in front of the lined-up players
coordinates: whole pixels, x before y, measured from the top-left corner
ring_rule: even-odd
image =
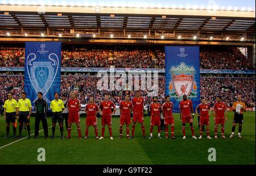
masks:
[[[94,139],[94,130],[89,128],[89,140],[78,140],[75,124],[72,125],[72,138],[60,140],[60,133],[56,128],[55,140],[43,138],[43,131],[39,133],[39,139],[23,139],[17,143],[0,149],[0,164],[255,164],[255,112],[246,112],[244,115],[242,139],[234,137],[229,139],[232,127],[233,113],[229,112],[229,120],[226,123],[227,139],[208,140],[203,134],[203,139],[193,140],[187,124],[187,139],[182,139],[181,121],[175,114],[176,140],[156,138],[157,127],[154,128],[154,139],[142,139],[141,125],[137,124],[135,138],[127,140],[118,139],[119,118],[113,118],[114,140],[109,139],[108,128],[105,130],[104,140]],[[101,119],[98,120],[100,124]],[[82,136],[84,136],[85,118],[81,118]],[[197,118],[194,120],[196,136],[199,136]],[[146,135],[149,136],[150,118],[145,118]],[[34,118],[31,118],[31,132],[34,133]],[[48,118],[48,125],[51,118]],[[50,126],[49,125],[49,126]],[[101,125],[99,125],[99,135]],[[40,126],[42,129],[42,125]],[[170,127],[169,127],[170,130]],[[236,134],[238,127],[236,128]],[[123,129],[126,134],[125,128]],[[130,130],[131,132],[131,130]],[[214,124],[210,118],[210,136],[213,137]],[[220,127],[218,129],[220,134]],[[10,136],[13,135],[10,128]],[[27,132],[23,131],[23,136]],[[51,128],[49,128],[51,135]],[[65,131],[64,135],[67,135]],[[220,135],[219,135],[220,136]],[[14,139],[4,139],[5,120],[0,116],[0,146],[9,144]],[[162,132],[164,137],[164,132]],[[38,148],[46,149],[46,162],[38,162]],[[208,149],[215,148],[217,161],[208,161]]]

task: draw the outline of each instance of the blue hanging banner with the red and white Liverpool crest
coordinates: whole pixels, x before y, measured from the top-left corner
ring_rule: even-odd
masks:
[[[179,112],[179,102],[186,94],[195,108],[200,103],[199,47],[165,47],[166,95]]]

